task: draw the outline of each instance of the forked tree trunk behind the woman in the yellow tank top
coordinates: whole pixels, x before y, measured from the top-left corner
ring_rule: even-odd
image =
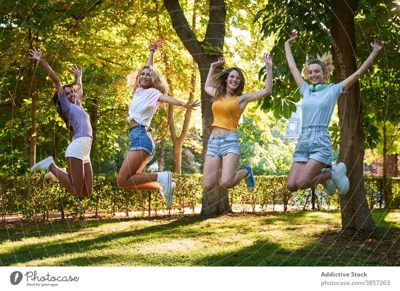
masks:
[[[202,43],[207,46],[212,45],[216,50],[222,51],[225,38],[225,17],[226,5],[224,0],[209,1],[209,18],[204,40],[199,42],[190,29],[189,24],[183,14],[178,0],[164,0],[164,6],[168,10],[172,21],[172,26],[179,36],[183,45],[196,61],[200,72],[201,84],[201,117],[202,117],[202,144],[203,158],[207,150],[207,141],[211,134],[211,124],[213,121],[211,110],[211,97],[204,91],[204,84],[207,78],[209,64],[216,60],[218,56],[215,52],[205,51]],[[231,212],[229,205],[228,192],[223,187],[204,194],[202,198],[201,214],[204,216],[221,215]]]

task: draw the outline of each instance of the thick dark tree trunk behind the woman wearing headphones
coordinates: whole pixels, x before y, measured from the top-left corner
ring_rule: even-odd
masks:
[[[334,71],[336,82],[356,71],[353,55],[355,48],[354,13],[358,0],[332,0],[331,33],[335,41],[333,59],[338,67]],[[363,118],[359,82],[353,83],[338,99],[340,119],[339,161],[347,166],[350,188],[340,196],[341,227],[346,230],[372,230],[374,222],[365,197],[363,178]]]

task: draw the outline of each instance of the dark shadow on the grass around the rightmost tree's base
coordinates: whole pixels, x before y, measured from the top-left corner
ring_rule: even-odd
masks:
[[[210,266],[398,266],[400,229],[343,235],[340,229],[313,235],[315,241],[298,248],[258,240],[238,251],[209,255],[196,264]]]

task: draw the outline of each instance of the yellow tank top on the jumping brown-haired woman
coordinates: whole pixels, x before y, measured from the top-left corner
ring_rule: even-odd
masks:
[[[212,103],[214,122],[211,127],[218,126],[232,131],[237,131],[237,124],[243,110],[237,104],[237,96],[218,98]]]

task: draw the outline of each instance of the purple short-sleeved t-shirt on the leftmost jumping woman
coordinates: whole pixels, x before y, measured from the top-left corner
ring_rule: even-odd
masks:
[[[93,137],[89,114],[87,114],[87,112],[79,105],[70,102],[65,93],[58,93],[58,100],[61,104],[62,112],[65,112],[69,123],[71,123],[74,132],[74,138],[79,138],[82,136]],[[76,102],[78,102],[78,100],[76,100]]]

